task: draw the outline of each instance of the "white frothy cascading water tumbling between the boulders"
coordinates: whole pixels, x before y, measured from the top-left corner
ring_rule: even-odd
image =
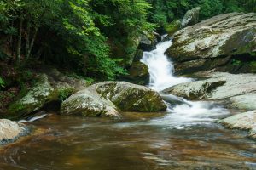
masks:
[[[183,82],[191,82],[193,79],[186,77],[175,77],[173,75],[173,64],[165,55],[166,49],[172,45],[172,41],[160,42],[156,49],[151,52],[143,52],[141,61],[148,65],[150,74],[149,88],[160,92],[166,88]],[[180,99],[169,94],[162,94],[163,98],[174,99],[179,105],[169,106],[168,114],[164,118],[154,119],[152,124],[168,124],[170,127],[183,128],[198,124],[210,123],[220,116],[229,114],[224,108],[212,102],[192,102]]]

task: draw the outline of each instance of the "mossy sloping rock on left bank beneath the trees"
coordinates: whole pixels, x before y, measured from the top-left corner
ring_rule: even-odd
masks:
[[[50,103],[60,103],[82,88],[86,88],[86,82],[49,68],[38,75],[38,81],[23,97],[9,105],[7,116],[14,120],[26,118]]]

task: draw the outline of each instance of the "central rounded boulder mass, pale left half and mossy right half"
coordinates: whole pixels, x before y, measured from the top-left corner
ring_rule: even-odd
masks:
[[[100,82],[76,94],[61,105],[61,114],[119,117],[119,111],[166,111],[160,94],[129,82]]]

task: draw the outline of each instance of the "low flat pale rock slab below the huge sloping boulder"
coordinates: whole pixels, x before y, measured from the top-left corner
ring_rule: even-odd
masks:
[[[185,82],[165,90],[166,93],[186,99],[229,99],[232,107],[247,111],[256,109],[255,91],[255,74],[230,74],[226,72],[207,73],[206,80]]]

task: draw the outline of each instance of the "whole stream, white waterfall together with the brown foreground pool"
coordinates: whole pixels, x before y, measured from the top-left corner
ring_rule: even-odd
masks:
[[[144,52],[149,88],[161,92],[178,83],[166,55],[171,41]],[[215,123],[234,111],[208,101],[176,100],[165,113],[125,113],[122,120],[48,113],[26,122],[39,134],[0,150],[0,169],[167,170],[256,169],[256,143],[246,133]]]

